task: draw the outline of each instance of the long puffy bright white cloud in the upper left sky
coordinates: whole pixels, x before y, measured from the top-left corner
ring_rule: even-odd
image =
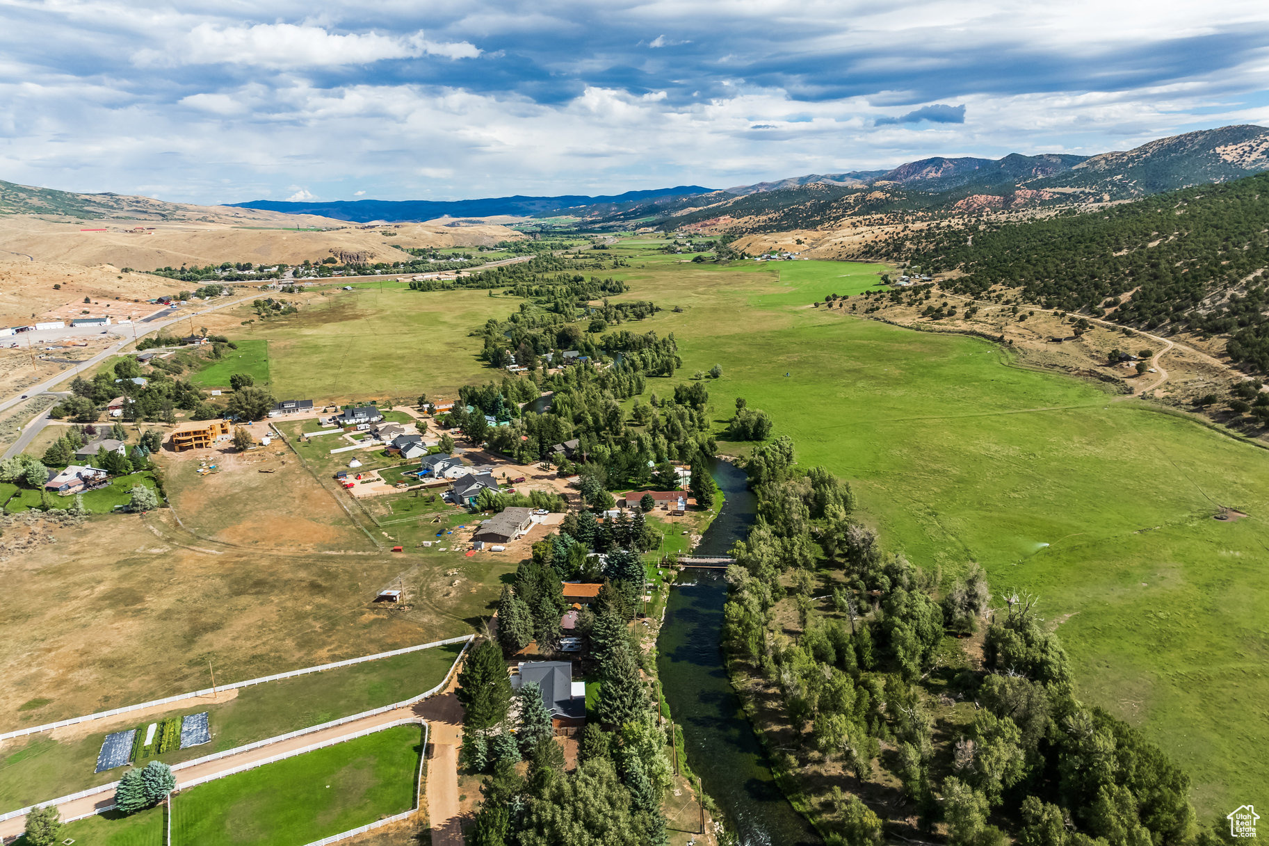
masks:
[[[368,65],[420,56],[475,58],[480,53],[480,48],[466,41],[430,41],[423,32],[338,34],[313,24],[226,27],[204,22],[181,37],[179,44],[137,51],[133,62],[141,67],[250,65],[280,70]]]

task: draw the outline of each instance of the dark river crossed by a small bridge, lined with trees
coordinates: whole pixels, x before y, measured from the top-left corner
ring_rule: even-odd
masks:
[[[754,524],[755,501],[733,464],[714,462],[711,472],[726,502],[695,552],[726,556]],[[824,840],[775,784],[727,680],[721,643],[726,601],[722,571],[685,569],[670,589],[657,638],[657,671],[670,712],[683,726],[688,762],[741,846],[820,846]]]

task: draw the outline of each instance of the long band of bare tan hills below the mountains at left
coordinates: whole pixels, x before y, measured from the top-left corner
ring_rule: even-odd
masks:
[[[456,226],[452,221],[364,228],[287,214],[89,222],[14,214],[0,218],[0,260],[154,270],[222,261],[299,264],[344,251],[360,252],[368,261],[405,261],[411,256],[404,247],[491,246],[520,237],[500,225]]]

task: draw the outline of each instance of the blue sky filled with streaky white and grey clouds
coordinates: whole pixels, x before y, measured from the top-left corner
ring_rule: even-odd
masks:
[[[0,0],[0,179],[173,202],[727,188],[1269,126],[1264,0]]]

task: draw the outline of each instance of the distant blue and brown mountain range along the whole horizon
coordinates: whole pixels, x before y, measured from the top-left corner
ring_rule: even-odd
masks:
[[[495,197],[466,200],[253,200],[221,207],[145,197],[77,194],[0,181],[0,214],[146,219],[225,219],[308,216],[336,221],[409,222],[442,217],[570,217],[585,228],[726,226],[745,232],[826,228],[863,214],[976,213],[1136,199],[1221,183],[1269,169],[1269,129],[1228,126],[1151,141],[1095,156],[1010,153],[1003,159],[934,156],[891,170],[807,174],[714,190],[678,185],[613,195]],[[321,218],[321,219],[317,219]],[[294,219],[294,218],[291,218]],[[270,222],[272,222],[270,221]],[[299,221],[296,221],[297,223]]]

